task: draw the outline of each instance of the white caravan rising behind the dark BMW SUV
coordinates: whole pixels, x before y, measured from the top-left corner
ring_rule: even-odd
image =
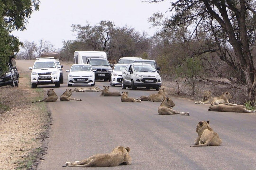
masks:
[[[104,51],[75,51],[74,64],[86,64],[88,58],[105,58],[107,53]]]

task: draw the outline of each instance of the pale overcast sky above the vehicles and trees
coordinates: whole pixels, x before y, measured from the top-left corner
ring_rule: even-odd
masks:
[[[101,20],[114,21],[116,26],[134,27],[153,35],[157,28],[151,28],[147,18],[154,12],[166,12],[170,0],[147,3],[141,0],[41,0],[39,11],[33,12],[27,30],[12,34],[21,41],[38,42],[49,40],[55,48],[62,48],[62,40],[75,40],[72,24],[91,25]]]

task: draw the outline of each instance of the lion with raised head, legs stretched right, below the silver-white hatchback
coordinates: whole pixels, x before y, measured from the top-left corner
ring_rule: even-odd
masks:
[[[189,115],[189,112],[179,112],[176,110],[173,110],[172,107],[174,107],[174,102],[167,97],[161,105],[158,107],[158,114],[159,115]]]

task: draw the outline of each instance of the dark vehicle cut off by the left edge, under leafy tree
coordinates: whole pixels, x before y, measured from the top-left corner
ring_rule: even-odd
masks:
[[[11,85],[12,87],[18,87],[20,76],[16,67],[14,56],[10,56],[9,61],[6,64],[6,72],[3,72],[2,68],[0,68],[0,86]]]

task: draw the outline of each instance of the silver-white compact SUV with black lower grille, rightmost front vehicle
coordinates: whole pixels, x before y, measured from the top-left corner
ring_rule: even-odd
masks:
[[[151,64],[128,64],[123,70],[122,89],[131,87],[132,90],[136,90],[137,87],[146,87],[148,90],[158,90],[161,85],[161,77]]]

